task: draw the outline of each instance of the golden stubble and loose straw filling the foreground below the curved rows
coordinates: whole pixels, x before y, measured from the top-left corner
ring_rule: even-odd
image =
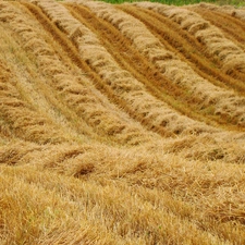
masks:
[[[24,152],[24,147],[30,148],[27,145],[19,146],[19,151]],[[57,241],[59,237],[66,240],[65,244],[75,244],[71,234],[83,230],[82,224],[77,228],[81,220],[87,221],[84,226],[100,229],[98,234],[102,237],[94,237],[96,234],[90,229],[86,230],[85,237],[81,237],[86,241],[88,236],[88,243],[98,241],[96,244],[103,244],[103,241],[110,244],[111,237],[120,236],[124,237],[123,244],[169,241],[219,244],[223,235],[232,240],[235,237],[234,241],[240,241],[240,244],[244,241],[241,235],[244,222],[242,194],[245,187],[242,166],[218,161],[183,162],[183,158],[160,154],[157,148],[151,148],[151,154],[148,151],[146,155],[146,148],[128,151],[72,145],[42,147],[42,160],[38,161],[40,149],[34,147],[32,154],[25,154],[15,162],[20,167],[1,167],[1,176],[8,180],[1,183],[11,189],[4,196],[4,201],[11,205],[11,196],[19,200],[15,208],[7,208],[2,203],[2,207],[5,207],[2,217],[7,216],[8,210],[14,209],[8,222],[4,220],[7,231],[12,225],[16,233],[28,240],[40,238],[45,244],[46,240],[52,237],[51,241]],[[30,156],[33,159],[26,164]],[[62,175],[56,175],[50,170]],[[79,180],[70,176],[79,176]],[[12,185],[16,187],[12,188]],[[35,198],[32,199],[29,195]],[[228,201],[229,206],[225,205]],[[16,223],[11,224],[16,222],[15,212],[21,213],[16,217],[25,220],[22,228]],[[40,217],[41,220],[38,220]],[[58,223],[58,220],[62,220],[62,223]],[[235,229],[232,220],[237,222]],[[29,234],[27,237],[22,232],[24,228]],[[205,232],[209,229],[212,235]],[[15,232],[12,235],[17,235]],[[10,234],[7,236],[17,240]]]

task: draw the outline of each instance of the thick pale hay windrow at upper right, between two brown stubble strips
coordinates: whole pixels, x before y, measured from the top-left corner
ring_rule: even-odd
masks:
[[[245,73],[245,54],[243,50],[226,39],[219,28],[212,26],[197,13],[183,8],[166,8],[156,4],[155,10],[168,16],[181,28],[192,34],[206,47],[206,52],[213,56],[222,64],[222,70],[229,75],[243,77]]]

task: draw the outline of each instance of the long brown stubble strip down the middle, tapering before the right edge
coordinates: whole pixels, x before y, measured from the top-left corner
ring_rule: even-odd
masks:
[[[130,39],[125,38],[110,23],[98,19],[87,8],[77,4],[64,4],[81,23],[86,25],[100,38],[100,42],[120,64],[133,74],[158,99],[167,102],[175,110],[197,121],[217,125],[212,119],[196,112],[195,98],[163,77],[160,72],[132,47]],[[187,98],[186,98],[187,97]]]

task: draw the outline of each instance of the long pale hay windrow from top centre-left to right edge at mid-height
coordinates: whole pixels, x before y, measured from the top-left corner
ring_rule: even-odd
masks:
[[[167,50],[143,23],[131,15],[106,3],[78,2],[87,5],[98,16],[118,27],[142,53],[158,66],[164,76],[179,86],[186,87],[193,97],[199,99],[201,107],[212,106],[215,109],[211,113],[225,119],[230,118],[234,120],[234,123],[244,125],[244,98],[237,97],[231,90],[217,87],[198,76],[186,63]]]

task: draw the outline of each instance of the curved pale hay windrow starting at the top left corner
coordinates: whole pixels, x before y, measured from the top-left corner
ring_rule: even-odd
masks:
[[[36,56],[39,69],[46,77],[52,83],[51,86],[58,90],[59,96],[65,103],[76,111],[76,113],[82,117],[85,122],[93,126],[94,130],[98,131],[101,135],[109,136],[119,142],[128,142],[133,138],[133,142],[147,140],[147,133],[144,130],[138,130],[138,125],[134,126],[131,119],[117,112],[113,106],[108,105],[108,101],[95,91],[86,78],[75,77],[69,72],[59,57],[56,56],[52,47],[45,41],[40,33],[37,33],[36,26],[30,27],[27,15],[25,19],[22,17],[23,13],[20,9],[2,9],[9,15],[13,15],[13,19],[9,19],[9,25],[19,33],[22,37],[23,42],[25,42],[25,48],[32,49],[33,53]],[[5,16],[7,17],[7,16]],[[20,24],[21,23],[21,24]],[[27,30],[26,30],[27,28]],[[78,75],[78,74],[77,74]],[[125,120],[127,118],[127,120]]]

